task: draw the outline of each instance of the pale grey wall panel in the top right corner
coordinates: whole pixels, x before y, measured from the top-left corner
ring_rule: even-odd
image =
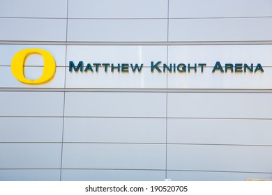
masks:
[[[169,17],[271,17],[269,0],[169,0]]]

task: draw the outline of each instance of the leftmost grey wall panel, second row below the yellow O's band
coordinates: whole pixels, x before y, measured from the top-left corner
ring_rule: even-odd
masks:
[[[1,117],[0,142],[61,142],[62,118]]]

